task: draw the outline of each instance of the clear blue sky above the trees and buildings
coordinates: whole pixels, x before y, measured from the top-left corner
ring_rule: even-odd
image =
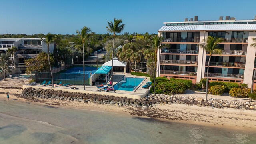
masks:
[[[123,32],[157,33],[163,22],[254,19],[256,0],[1,0],[0,34],[76,34],[83,26],[107,33],[107,21],[121,18]]]

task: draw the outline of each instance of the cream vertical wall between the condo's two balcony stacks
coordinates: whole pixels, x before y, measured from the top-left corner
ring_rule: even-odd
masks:
[[[200,43],[204,43],[204,39],[208,36],[208,32],[200,32]],[[197,66],[197,77],[196,82],[200,82],[204,78],[205,71],[205,62],[206,62],[206,51],[202,48],[198,48],[198,66]]]

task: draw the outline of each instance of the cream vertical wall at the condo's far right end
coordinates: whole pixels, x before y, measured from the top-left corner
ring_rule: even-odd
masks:
[[[246,63],[244,70],[244,83],[248,84],[248,87],[252,85],[252,76],[254,68],[254,59],[256,48],[251,47],[250,45],[254,43],[252,38],[256,38],[256,32],[249,32],[248,36],[248,45],[247,45],[247,54],[246,54]]]

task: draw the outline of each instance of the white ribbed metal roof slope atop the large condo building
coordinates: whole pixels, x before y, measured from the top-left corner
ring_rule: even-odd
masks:
[[[158,32],[164,31],[217,31],[217,30],[256,30],[256,24],[212,24],[162,26]]]

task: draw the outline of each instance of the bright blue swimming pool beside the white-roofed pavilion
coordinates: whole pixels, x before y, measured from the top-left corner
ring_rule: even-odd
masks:
[[[133,91],[145,78],[124,77],[114,85],[115,90]]]

